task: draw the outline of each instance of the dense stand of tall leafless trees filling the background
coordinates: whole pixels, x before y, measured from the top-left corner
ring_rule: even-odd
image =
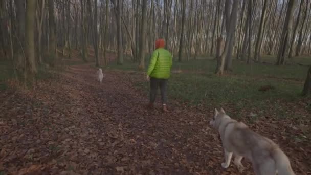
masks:
[[[65,56],[77,49],[88,61],[86,48],[93,47],[97,65],[106,63],[99,62],[106,51],[117,52],[119,64],[127,55],[144,64],[144,53],[160,37],[179,61],[215,56],[219,45],[220,72],[230,70],[234,58],[260,62],[263,55],[275,55],[282,65],[287,58],[311,54],[308,0],[0,3],[1,58],[23,68],[25,54],[34,72],[37,64],[56,59],[56,48]]]

